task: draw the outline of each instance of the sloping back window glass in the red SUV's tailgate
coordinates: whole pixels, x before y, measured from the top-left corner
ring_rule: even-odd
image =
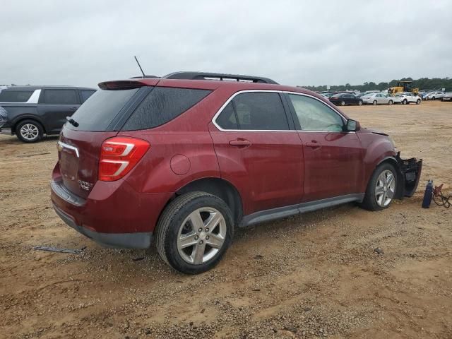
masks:
[[[69,129],[78,131],[106,131],[114,117],[121,111],[131,97],[138,91],[132,90],[97,90],[73,114],[78,127],[66,124]]]

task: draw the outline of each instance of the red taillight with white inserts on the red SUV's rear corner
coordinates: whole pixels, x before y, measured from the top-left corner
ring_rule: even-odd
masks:
[[[111,138],[102,143],[99,180],[114,182],[130,172],[150,148],[148,141],[136,138]]]

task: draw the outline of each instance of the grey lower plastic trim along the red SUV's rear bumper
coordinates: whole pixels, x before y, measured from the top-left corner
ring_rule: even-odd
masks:
[[[77,232],[93,239],[97,244],[102,246],[121,248],[121,249],[148,249],[150,247],[153,232],[137,232],[137,233],[102,233],[95,232],[86,227],[79,226],[71,215],[66,214],[54,205],[54,210],[69,227]]]

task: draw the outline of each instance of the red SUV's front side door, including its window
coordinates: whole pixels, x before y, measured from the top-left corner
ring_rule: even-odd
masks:
[[[304,144],[303,201],[359,193],[363,152],[357,134],[343,131],[345,118],[309,95],[287,99]]]

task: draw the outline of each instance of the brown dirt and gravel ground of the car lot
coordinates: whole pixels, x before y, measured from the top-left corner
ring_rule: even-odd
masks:
[[[452,208],[420,207],[427,179],[452,194],[452,103],[344,111],[424,159],[415,197],[238,230],[196,276],[71,230],[49,199],[57,138],[0,136],[0,338],[452,338]]]

